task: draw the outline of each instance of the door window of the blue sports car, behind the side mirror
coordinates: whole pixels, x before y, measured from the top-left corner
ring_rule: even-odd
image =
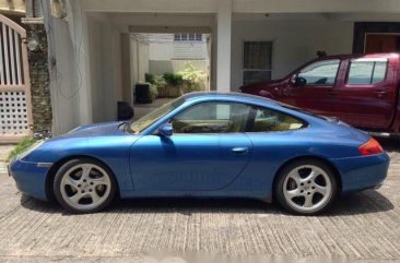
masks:
[[[236,103],[202,103],[175,116],[175,133],[230,133],[246,130],[250,107]]]

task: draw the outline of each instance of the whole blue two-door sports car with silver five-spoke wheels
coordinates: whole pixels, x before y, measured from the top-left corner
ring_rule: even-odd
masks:
[[[16,156],[21,192],[74,213],[120,198],[250,198],[303,215],[378,187],[389,157],[332,118],[244,94],[192,93],[134,122],[79,127]]]

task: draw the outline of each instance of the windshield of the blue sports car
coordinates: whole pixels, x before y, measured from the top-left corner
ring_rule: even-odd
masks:
[[[176,98],[167,104],[164,104],[162,107],[157,108],[156,110],[150,112],[149,115],[143,116],[139,120],[131,122],[129,124],[129,130],[133,133],[140,133],[155,121],[161,119],[163,116],[169,113],[180,105],[185,103],[185,98]]]

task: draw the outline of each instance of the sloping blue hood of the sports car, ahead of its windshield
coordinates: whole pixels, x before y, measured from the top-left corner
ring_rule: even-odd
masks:
[[[121,135],[123,134],[123,127],[126,121],[114,121],[114,122],[103,122],[103,123],[94,123],[80,125],[72,131],[62,134],[57,139],[67,139],[67,138],[83,138],[83,136],[110,136],[110,135]]]

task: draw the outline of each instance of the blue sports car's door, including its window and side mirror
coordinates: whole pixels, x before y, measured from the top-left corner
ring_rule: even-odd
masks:
[[[145,135],[130,152],[137,191],[212,191],[232,183],[252,144],[244,133],[250,108],[236,103],[193,105],[173,117],[172,136]]]

